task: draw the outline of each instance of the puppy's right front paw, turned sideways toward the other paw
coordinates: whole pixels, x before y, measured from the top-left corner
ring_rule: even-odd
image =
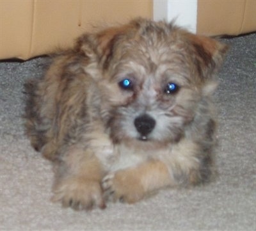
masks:
[[[132,170],[121,170],[109,173],[102,179],[104,198],[116,202],[135,203],[145,195],[140,176]]]

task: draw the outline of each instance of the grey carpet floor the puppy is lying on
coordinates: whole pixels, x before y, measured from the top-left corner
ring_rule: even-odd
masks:
[[[40,76],[45,58],[0,62],[0,230],[256,230],[256,34],[224,41],[218,180],[104,211],[51,203],[51,164],[23,135],[22,84]]]

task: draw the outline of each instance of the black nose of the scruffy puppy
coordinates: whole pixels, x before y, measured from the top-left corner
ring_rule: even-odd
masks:
[[[137,131],[140,132],[141,136],[147,136],[154,129],[156,125],[156,120],[145,114],[138,116],[134,120],[134,125]]]

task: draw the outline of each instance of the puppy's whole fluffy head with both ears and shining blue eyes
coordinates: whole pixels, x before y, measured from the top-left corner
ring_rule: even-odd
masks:
[[[165,22],[137,19],[79,39],[98,63],[102,118],[113,141],[163,145],[178,140],[227,47]]]

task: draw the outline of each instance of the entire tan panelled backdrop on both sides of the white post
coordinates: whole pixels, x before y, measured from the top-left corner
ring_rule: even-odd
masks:
[[[27,60],[69,47],[93,26],[152,18],[152,9],[152,0],[0,0],[0,59]],[[197,32],[256,30],[255,12],[256,0],[198,0]]]

